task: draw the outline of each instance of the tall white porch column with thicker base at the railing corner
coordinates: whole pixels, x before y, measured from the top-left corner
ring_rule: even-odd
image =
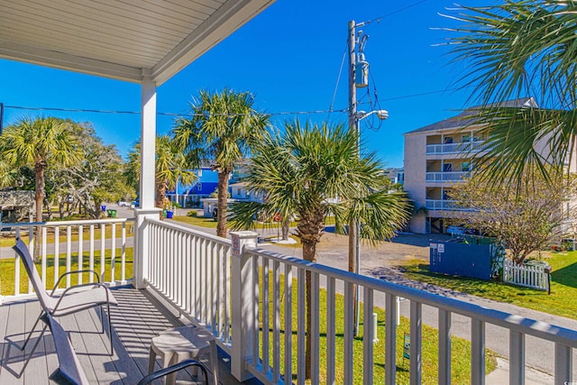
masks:
[[[141,85],[141,206],[135,210],[136,231],[134,232],[134,286],[145,287],[147,278],[149,233],[145,219],[159,218],[160,208],[154,207],[154,170],[156,141],[156,82],[149,69],[142,69]]]

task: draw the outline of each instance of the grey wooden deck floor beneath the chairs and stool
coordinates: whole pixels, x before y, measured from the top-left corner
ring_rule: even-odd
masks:
[[[166,328],[182,324],[146,290],[114,289],[114,297],[119,305],[111,307],[112,356],[108,354],[108,336],[100,333],[102,326],[98,310],[63,316],[59,320],[64,329],[70,332],[70,340],[90,383],[133,385],[148,373],[151,338]],[[36,300],[8,302],[0,306],[0,384],[58,383],[49,380],[50,374],[59,366],[50,331],[42,338],[23,376],[20,379],[16,376],[24,362],[23,353],[17,346],[23,343],[25,332],[32,328],[39,312],[40,306]],[[40,333],[32,337],[26,347],[27,352],[30,352],[38,335]],[[227,358],[223,357],[222,352],[220,355],[220,383],[239,384],[230,374]],[[157,360],[156,369],[160,369],[160,360]],[[186,372],[179,373],[179,379],[191,380],[191,376]]]

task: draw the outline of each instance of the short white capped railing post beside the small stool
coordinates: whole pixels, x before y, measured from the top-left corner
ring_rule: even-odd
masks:
[[[259,352],[254,345],[258,333],[258,309],[254,300],[258,295],[258,276],[255,277],[253,259],[248,255],[248,247],[256,247],[258,234],[250,231],[231,232],[233,238],[232,258],[232,326],[233,348],[231,352],[231,372],[236,380],[252,378],[248,365],[254,365],[254,353]],[[255,283],[256,280],[256,283]]]

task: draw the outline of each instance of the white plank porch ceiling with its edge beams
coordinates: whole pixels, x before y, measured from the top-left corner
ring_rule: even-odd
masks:
[[[0,0],[0,58],[157,85],[274,0]]]

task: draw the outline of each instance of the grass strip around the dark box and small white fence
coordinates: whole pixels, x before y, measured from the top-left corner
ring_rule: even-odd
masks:
[[[402,268],[412,280],[420,280],[475,296],[577,319],[577,252],[544,252],[553,267],[551,295],[546,291],[508,285],[494,280],[475,280],[430,272],[428,261],[410,261]]]

